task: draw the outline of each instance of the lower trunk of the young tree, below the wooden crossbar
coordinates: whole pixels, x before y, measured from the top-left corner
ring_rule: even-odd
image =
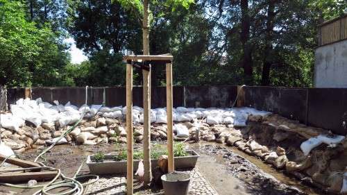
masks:
[[[151,183],[151,71],[142,70],[144,79],[144,184]]]

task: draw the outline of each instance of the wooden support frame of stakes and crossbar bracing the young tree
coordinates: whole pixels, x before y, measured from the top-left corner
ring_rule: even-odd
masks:
[[[168,151],[168,171],[169,173],[174,171],[174,137],[173,137],[173,120],[172,120],[172,60],[171,55],[159,55],[159,56],[124,56],[126,61],[126,133],[127,133],[127,173],[126,173],[126,188],[127,194],[133,194],[133,66],[135,62],[142,62],[142,64],[149,64],[149,69],[144,71],[151,71],[150,64],[155,61],[166,63],[167,74],[167,151]],[[149,123],[150,126],[150,112],[151,112],[151,83],[149,79],[144,79],[144,122]],[[150,151],[150,128],[144,128],[144,151]],[[145,149],[146,147],[146,149]],[[147,152],[148,153],[148,152]],[[149,162],[151,165],[151,154],[144,156],[144,162]],[[145,169],[151,169],[151,166],[146,166]],[[149,170],[144,170],[145,172]]]

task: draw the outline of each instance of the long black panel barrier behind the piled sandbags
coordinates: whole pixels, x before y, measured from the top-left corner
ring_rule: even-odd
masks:
[[[174,107],[230,108],[237,96],[237,86],[175,86]],[[85,102],[85,87],[33,87],[7,90],[7,103],[17,99],[42,97],[43,101],[71,101],[81,106]],[[126,105],[125,87],[92,87],[88,89],[88,104]],[[309,126],[325,128],[346,135],[347,89],[242,87],[237,106],[266,110]],[[142,87],[134,87],[133,104],[142,107]],[[166,106],[166,88],[152,87],[152,108]]]

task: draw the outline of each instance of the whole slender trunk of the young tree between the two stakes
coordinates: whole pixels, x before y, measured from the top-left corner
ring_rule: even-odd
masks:
[[[142,42],[144,55],[149,55],[149,0],[144,0],[144,19],[142,21]],[[144,184],[151,183],[151,71],[142,70],[144,80]]]

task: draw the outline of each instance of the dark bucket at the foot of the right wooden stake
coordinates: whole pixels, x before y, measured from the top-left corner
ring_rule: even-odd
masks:
[[[162,175],[162,187],[165,195],[187,195],[189,189],[189,173],[175,171]]]

